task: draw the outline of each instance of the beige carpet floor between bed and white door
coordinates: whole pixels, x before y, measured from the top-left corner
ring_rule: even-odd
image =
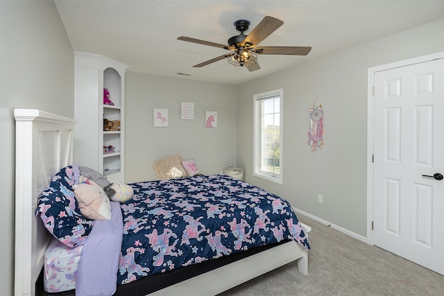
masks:
[[[444,276],[298,214],[311,226],[309,275],[289,263],[219,296],[444,295]]]

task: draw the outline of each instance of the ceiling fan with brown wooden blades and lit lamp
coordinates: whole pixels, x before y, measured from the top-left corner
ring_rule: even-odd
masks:
[[[239,19],[234,21],[234,26],[236,27],[236,30],[241,33],[231,37],[228,40],[228,45],[185,36],[178,37],[178,40],[219,47],[231,51],[230,53],[225,53],[224,55],[207,60],[206,62],[195,64],[193,67],[199,68],[207,66],[207,64],[212,64],[213,62],[226,58],[228,62],[234,66],[245,66],[249,71],[256,71],[261,68],[257,63],[257,55],[307,55],[311,51],[311,47],[309,46],[258,46],[259,43],[283,24],[284,22],[280,19],[266,16],[253,29],[253,31],[248,35],[245,35],[244,31],[248,30],[250,21]]]

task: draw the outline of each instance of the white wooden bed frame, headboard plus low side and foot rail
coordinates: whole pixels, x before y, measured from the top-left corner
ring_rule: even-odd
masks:
[[[35,295],[44,251],[51,239],[40,218],[35,216],[37,198],[60,168],[74,163],[76,121],[40,110],[16,109],[14,116],[15,295]],[[308,235],[311,227],[302,227]],[[308,251],[289,241],[150,295],[216,295],[295,260],[299,271],[307,275]]]

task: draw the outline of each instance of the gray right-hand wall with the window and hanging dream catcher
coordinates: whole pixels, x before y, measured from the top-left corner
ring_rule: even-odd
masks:
[[[246,181],[366,236],[367,70],[444,51],[444,19],[239,86],[237,164]],[[283,184],[253,176],[253,94],[284,89]],[[323,105],[325,146],[311,154],[308,108]],[[318,194],[323,204],[318,204]]]

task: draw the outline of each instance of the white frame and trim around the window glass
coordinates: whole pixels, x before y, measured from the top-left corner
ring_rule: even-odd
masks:
[[[262,108],[261,104],[264,100],[269,98],[280,98],[279,103],[279,173],[271,173],[269,171],[265,171],[263,169],[264,163],[262,160],[262,152],[263,152],[263,146],[262,146]],[[283,110],[283,91],[282,89],[275,89],[270,92],[263,92],[261,94],[255,94],[253,95],[253,104],[254,104],[254,150],[253,150],[253,175],[256,177],[261,177],[263,179],[269,180],[271,182],[275,182],[278,184],[282,184],[282,110]]]

